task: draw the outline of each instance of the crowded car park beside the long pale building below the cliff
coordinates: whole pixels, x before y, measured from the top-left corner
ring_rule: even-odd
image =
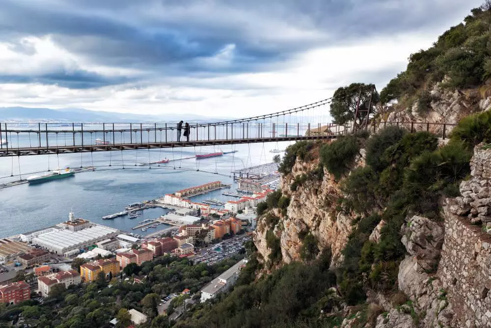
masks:
[[[244,244],[251,239],[250,236],[240,236],[209,246],[200,251],[199,255],[192,260],[195,264],[206,263],[209,265],[216,264],[226,258],[232,257],[239,253]]]

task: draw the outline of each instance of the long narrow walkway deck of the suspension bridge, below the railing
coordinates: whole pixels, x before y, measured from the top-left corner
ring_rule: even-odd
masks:
[[[213,146],[226,144],[243,144],[243,143],[261,143],[261,142],[279,142],[279,141],[300,141],[315,139],[333,139],[339,135],[321,135],[321,136],[292,136],[292,137],[253,137],[238,139],[216,139],[216,140],[197,140],[189,142],[144,142],[144,143],[119,143],[108,145],[67,145],[47,147],[4,147],[0,148],[0,157],[7,156],[27,156],[27,155],[49,155],[49,154],[69,154],[80,152],[99,152],[99,151],[116,151],[132,149],[153,149],[153,148],[173,148],[173,147],[194,147],[194,146]]]

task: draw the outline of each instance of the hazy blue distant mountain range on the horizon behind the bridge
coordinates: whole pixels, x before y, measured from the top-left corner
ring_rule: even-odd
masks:
[[[216,122],[226,118],[194,114],[142,115],[78,108],[0,108],[0,122],[175,122],[181,119],[189,122]]]

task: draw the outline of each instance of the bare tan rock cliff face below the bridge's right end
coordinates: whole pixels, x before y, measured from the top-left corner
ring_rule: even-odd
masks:
[[[363,154],[363,150],[361,151]],[[363,165],[362,155],[358,156],[356,165]],[[321,181],[307,180],[296,191],[291,190],[296,177],[308,174],[318,166],[318,160],[304,163],[297,161],[292,173],[281,177],[280,188],[283,195],[290,197],[286,216],[279,211],[275,215],[280,217],[274,227],[276,237],[280,239],[281,254],[284,263],[300,261],[301,233],[310,232],[318,240],[320,249],[330,248],[332,262],[342,260],[341,251],[345,247],[348,236],[352,232],[353,218],[336,211],[336,202],[341,191],[338,183],[324,169]],[[254,242],[261,255],[267,259],[271,250],[267,247],[265,239],[269,227],[258,224],[254,235]]]

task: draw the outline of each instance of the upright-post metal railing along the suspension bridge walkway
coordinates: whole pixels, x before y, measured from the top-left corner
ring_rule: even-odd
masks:
[[[185,127],[180,141],[187,141]],[[189,141],[301,139],[335,136],[351,132],[351,125],[330,123],[239,122],[194,123]],[[50,149],[66,147],[112,148],[117,145],[177,143],[176,123],[0,123],[0,149]],[[82,149],[83,150],[83,149]],[[108,149],[101,149],[108,150]]]

